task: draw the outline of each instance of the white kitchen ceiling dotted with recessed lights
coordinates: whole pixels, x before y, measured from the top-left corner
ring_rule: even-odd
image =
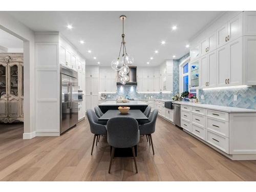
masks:
[[[118,56],[122,23],[127,53],[134,57],[135,66],[157,66],[165,59],[180,58],[188,53],[188,40],[221,11],[23,11],[10,12],[34,31],[59,31],[86,57],[87,65],[110,66]],[[71,24],[73,29],[67,29]],[[173,31],[172,26],[177,25]],[[79,43],[84,40],[84,44]],[[166,44],[161,45],[165,40]],[[88,53],[92,50],[92,53]],[[154,51],[159,53],[155,54]],[[97,59],[93,59],[93,57]],[[154,57],[150,60],[150,57]],[[146,62],[150,61],[150,65]]]

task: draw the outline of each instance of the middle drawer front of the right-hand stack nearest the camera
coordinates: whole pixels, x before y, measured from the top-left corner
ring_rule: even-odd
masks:
[[[229,123],[217,119],[207,117],[206,128],[212,132],[218,133],[225,137],[229,137]]]

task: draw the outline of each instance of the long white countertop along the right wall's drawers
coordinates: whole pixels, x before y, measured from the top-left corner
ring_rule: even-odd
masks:
[[[184,101],[174,101],[177,104],[183,104],[188,106],[195,106],[197,108],[209,109],[222,111],[227,113],[256,113],[256,110],[252,109],[244,109],[244,108],[233,108],[231,106],[221,106],[221,105],[213,105],[213,104],[200,104],[193,102],[184,102]]]

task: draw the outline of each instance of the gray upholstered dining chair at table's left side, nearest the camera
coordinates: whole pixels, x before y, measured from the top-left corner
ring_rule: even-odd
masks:
[[[95,112],[91,109],[87,110],[87,118],[90,124],[90,130],[92,134],[94,134],[92,151],[91,151],[91,155],[92,155],[95,139],[96,139],[96,146],[97,146],[97,142],[99,141],[100,135],[106,135],[106,125],[102,125],[98,123],[99,118],[96,116]]]

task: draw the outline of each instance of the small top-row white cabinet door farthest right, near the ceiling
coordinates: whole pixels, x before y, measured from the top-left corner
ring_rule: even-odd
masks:
[[[242,13],[228,22],[228,42],[242,36]]]

